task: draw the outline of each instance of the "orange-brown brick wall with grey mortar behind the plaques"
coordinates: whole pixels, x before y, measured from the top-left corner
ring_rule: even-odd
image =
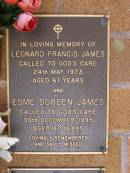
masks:
[[[0,160],[0,173],[9,167],[105,167],[107,173],[130,173],[130,1],[43,0],[39,14],[109,14],[110,115],[109,151],[104,155],[15,155],[7,164]],[[0,111],[7,109],[6,46],[0,68]]]

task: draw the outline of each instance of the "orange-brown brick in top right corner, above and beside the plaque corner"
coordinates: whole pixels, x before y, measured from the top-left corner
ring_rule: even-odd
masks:
[[[63,0],[63,14],[110,15],[111,31],[129,30],[130,1]]]

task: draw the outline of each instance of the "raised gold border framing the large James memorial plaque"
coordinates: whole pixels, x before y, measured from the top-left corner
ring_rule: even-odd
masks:
[[[106,113],[106,145],[105,145],[105,151],[94,151],[94,152],[80,152],[80,151],[74,151],[74,152],[35,152],[35,151],[17,151],[13,152],[14,154],[107,154],[108,153],[108,138],[109,138],[109,61],[110,61],[110,15],[71,15],[71,14],[38,14],[37,17],[106,17],[107,18],[107,113]],[[6,58],[7,58],[7,106],[8,110],[10,110],[10,92],[9,92],[9,29],[6,29]],[[8,113],[8,135],[11,136],[11,123],[10,123],[10,111]]]

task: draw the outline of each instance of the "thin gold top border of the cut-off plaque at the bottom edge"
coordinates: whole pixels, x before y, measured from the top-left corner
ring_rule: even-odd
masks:
[[[105,168],[8,168],[8,173],[11,173],[11,171],[59,171],[59,170],[70,170],[70,171],[103,171],[103,173],[106,172]]]

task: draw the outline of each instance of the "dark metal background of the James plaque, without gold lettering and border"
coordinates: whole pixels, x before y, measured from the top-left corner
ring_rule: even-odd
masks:
[[[56,35],[53,28],[60,24],[63,30]],[[10,123],[11,136],[18,137],[20,143],[16,144],[17,152],[106,152],[107,150],[107,20],[102,17],[43,17],[40,18],[38,28],[32,33],[20,33],[14,29],[9,31],[9,83],[10,83]],[[57,39],[59,37],[59,39]],[[27,42],[26,48],[20,47],[20,42]],[[30,47],[29,42],[53,42],[53,47]],[[57,42],[96,42],[96,47],[57,47]],[[84,51],[104,51],[104,57],[81,57]],[[44,51],[44,57],[15,57],[16,51]],[[59,57],[47,56],[48,51],[77,51],[78,56]],[[97,61],[96,67],[81,66],[81,61]],[[42,67],[21,67],[20,61],[35,63],[44,61]],[[49,66],[48,61],[55,61],[56,66]],[[75,61],[75,65],[59,66],[60,61]],[[36,70],[47,70],[48,74],[33,74]],[[50,74],[51,70],[63,70],[62,74]],[[68,74],[68,69],[82,69],[83,74]],[[49,78],[48,84],[32,83],[34,78]],[[60,78],[54,83],[53,78]],[[66,84],[63,78],[83,78],[83,83]],[[63,89],[56,93],[54,89]],[[34,105],[14,105],[13,99],[34,99]],[[72,104],[39,105],[39,99],[71,99]],[[98,105],[80,104],[79,100],[97,99]],[[103,104],[99,102],[103,100]],[[15,101],[16,101],[15,100]],[[17,102],[17,101],[16,101]],[[18,103],[18,102],[17,102]],[[75,110],[70,114],[61,114],[59,110]],[[44,113],[20,113],[20,110],[40,111]],[[55,110],[57,113],[49,113]],[[95,113],[81,114],[85,110],[95,110]],[[39,122],[24,122],[30,118]],[[43,122],[41,118],[75,118],[75,122]],[[85,120],[84,122],[81,121]],[[79,121],[80,120],[80,121]],[[87,122],[88,120],[89,122]],[[34,130],[34,127],[48,126],[51,130]],[[69,126],[66,131],[65,126]],[[54,130],[53,127],[58,127]],[[71,129],[81,127],[82,130]],[[66,139],[57,140],[55,137],[64,136]],[[78,137],[75,139],[72,137]],[[82,141],[80,140],[82,138]],[[48,143],[49,142],[49,143]],[[50,146],[48,146],[48,144]],[[39,145],[39,146],[38,146]]]

